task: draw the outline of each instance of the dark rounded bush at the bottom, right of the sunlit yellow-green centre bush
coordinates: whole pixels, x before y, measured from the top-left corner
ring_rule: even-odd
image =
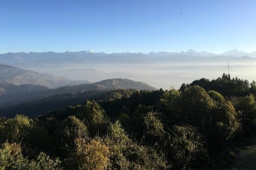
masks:
[[[171,169],[199,168],[207,162],[207,151],[196,128],[175,125],[171,133],[165,141]]]

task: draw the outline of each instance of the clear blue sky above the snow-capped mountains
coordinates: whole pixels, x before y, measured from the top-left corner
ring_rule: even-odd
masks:
[[[0,53],[252,52],[256,1],[1,0],[0,32]]]

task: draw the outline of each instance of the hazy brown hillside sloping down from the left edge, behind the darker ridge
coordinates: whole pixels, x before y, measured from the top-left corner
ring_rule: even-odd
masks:
[[[43,85],[49,88],[62,85],[76,85],[90,83],[88,81],[72,81],[60,76],[41,74],[32,70],[24,70],[18,67],[0,64],[0,84],[32,84]]]

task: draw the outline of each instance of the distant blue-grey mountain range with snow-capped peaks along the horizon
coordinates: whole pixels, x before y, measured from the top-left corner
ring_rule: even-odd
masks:
[[[244,51],[238,51],[237,49],[226,51],[222,54],[214,54],[206,51],[196,51],[188,50],[181,52],[169,52],[169,51],[152,51],[148,54],[145,53],[104,53],[104,52],[94,52],[92,50],[88,51],[78,51],[78,52],[18,52],[18,53],[5,53],[0,54],[1,63],[12,64],[12,63],[140,63],[140,62],[150,62],[157,61],[157,59],[165,59],[165,57],[176,57],[184,58],[189,56],[199,57],[199,59],[215,57],[215,56],[231,56],[231,57],[256,57],[256,51],[252,53],[246,53]],[[201,57],[201,58],[200,58]],[[172,58],[173,59],[173,58]]]

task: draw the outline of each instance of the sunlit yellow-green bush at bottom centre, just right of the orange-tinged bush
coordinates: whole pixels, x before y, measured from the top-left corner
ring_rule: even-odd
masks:
[[[110,124],[105,143],[110,150],[110,169],[166,169],[164,156],[133,142],[118,121]]]

